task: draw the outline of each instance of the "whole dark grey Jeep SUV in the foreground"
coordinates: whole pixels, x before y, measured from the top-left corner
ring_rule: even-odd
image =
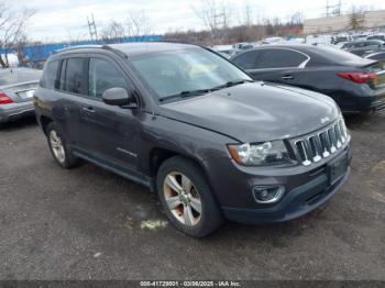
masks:
[[[59,166],[86,159],[157,191],[170,222],[193,236],[223,218],[298,218],[349,175],[350,135],[333,100],[254,82],[200,46],[59,52],[34,102]]]

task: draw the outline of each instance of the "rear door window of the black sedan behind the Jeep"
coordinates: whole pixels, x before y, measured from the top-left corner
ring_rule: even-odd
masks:
[[[289,49],[264,49],[258,57],[256,68],[288,68],[298,67],[308,57]]]

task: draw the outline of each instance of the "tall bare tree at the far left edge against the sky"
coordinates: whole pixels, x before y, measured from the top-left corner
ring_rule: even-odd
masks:
[[[12,49],[19,51],[25,42],[25,26],[34,14],[34,10],[14,10],[10,4],[0,2],[0,47],[6,52],[0,55],[1,67],[9,67],[8,54]]]

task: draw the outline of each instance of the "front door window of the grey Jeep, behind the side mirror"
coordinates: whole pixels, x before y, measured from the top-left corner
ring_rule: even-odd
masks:
[[[111,62],[90,58],[88,67],[88,96],[101,99],[107,89],[129,88],[124,76]]]

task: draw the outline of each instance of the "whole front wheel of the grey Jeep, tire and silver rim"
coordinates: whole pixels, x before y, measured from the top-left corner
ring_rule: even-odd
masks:
[[[170,223],[187,235],[204,237],[223,223],[223,217],[200,167],[175,156],[162,164],[156,190]]]

